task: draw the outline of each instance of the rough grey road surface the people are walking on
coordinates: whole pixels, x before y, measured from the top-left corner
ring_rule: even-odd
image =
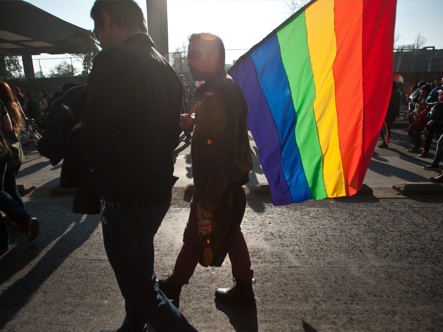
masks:
[[[431,159],[405,152],[404,136],[395,131],[390,149],[376,150],[365,183],[389,188],[435,174],[421,168]],[[192,180],[183,144],[176,174],[184,185]],[[124,301],[100,217],[74,214],[72,197],[51,196],[60,166],[27,154],[18,182],[38,187],[24,201],[41,233],[28,244],[23,233],[9,232],[11,249],[0,258],[0,331],[119,326]],[[256,165],[252,181],[264,179],[260,171]],[[441,196],[354,197],[276,207],[249,198],[242,230],[256,304],[214,301],[216,288],[232,285],[226,260],[220,268],[197,266],[180,309],[198,331],[443,331],[442,203]],[[173,199],[155,237],[158,276],[171,273],[188,212],[187,201]]]

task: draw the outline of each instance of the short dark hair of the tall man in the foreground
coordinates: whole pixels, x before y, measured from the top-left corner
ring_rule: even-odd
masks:
[[[139,5],[133,0],[97,0],[91,8],[91,19],[96,27],[103,26],[101,12],[107,12],[113,23],[120,28],[139,27],[148,33],[146,20]]]

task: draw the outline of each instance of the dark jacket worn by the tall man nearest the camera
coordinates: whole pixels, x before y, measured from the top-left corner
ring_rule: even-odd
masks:
[[[175,70],[137,33],[102,50],[88,80],[85,158],[106,201],[163,204],[177,178],[183,86]]]

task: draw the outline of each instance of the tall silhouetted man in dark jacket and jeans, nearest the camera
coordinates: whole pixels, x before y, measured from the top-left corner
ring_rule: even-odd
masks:
[[[158,332],[196,331],[159,291],[154,272],[153,239],[177,180],[171,151],[183,86],[134,1],[98,0],[91,18],[103,50],[88,81],[83,151],[105,205],[103,242],[126,309],[122,326],[104,331],[142,332],[146,322]]]

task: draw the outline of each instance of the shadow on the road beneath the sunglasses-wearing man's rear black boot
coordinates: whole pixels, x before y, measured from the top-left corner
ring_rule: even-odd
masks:
[[[214,300],[215,307],[225,313],[236,332],[258,332],[257,305],[233,305]]]

